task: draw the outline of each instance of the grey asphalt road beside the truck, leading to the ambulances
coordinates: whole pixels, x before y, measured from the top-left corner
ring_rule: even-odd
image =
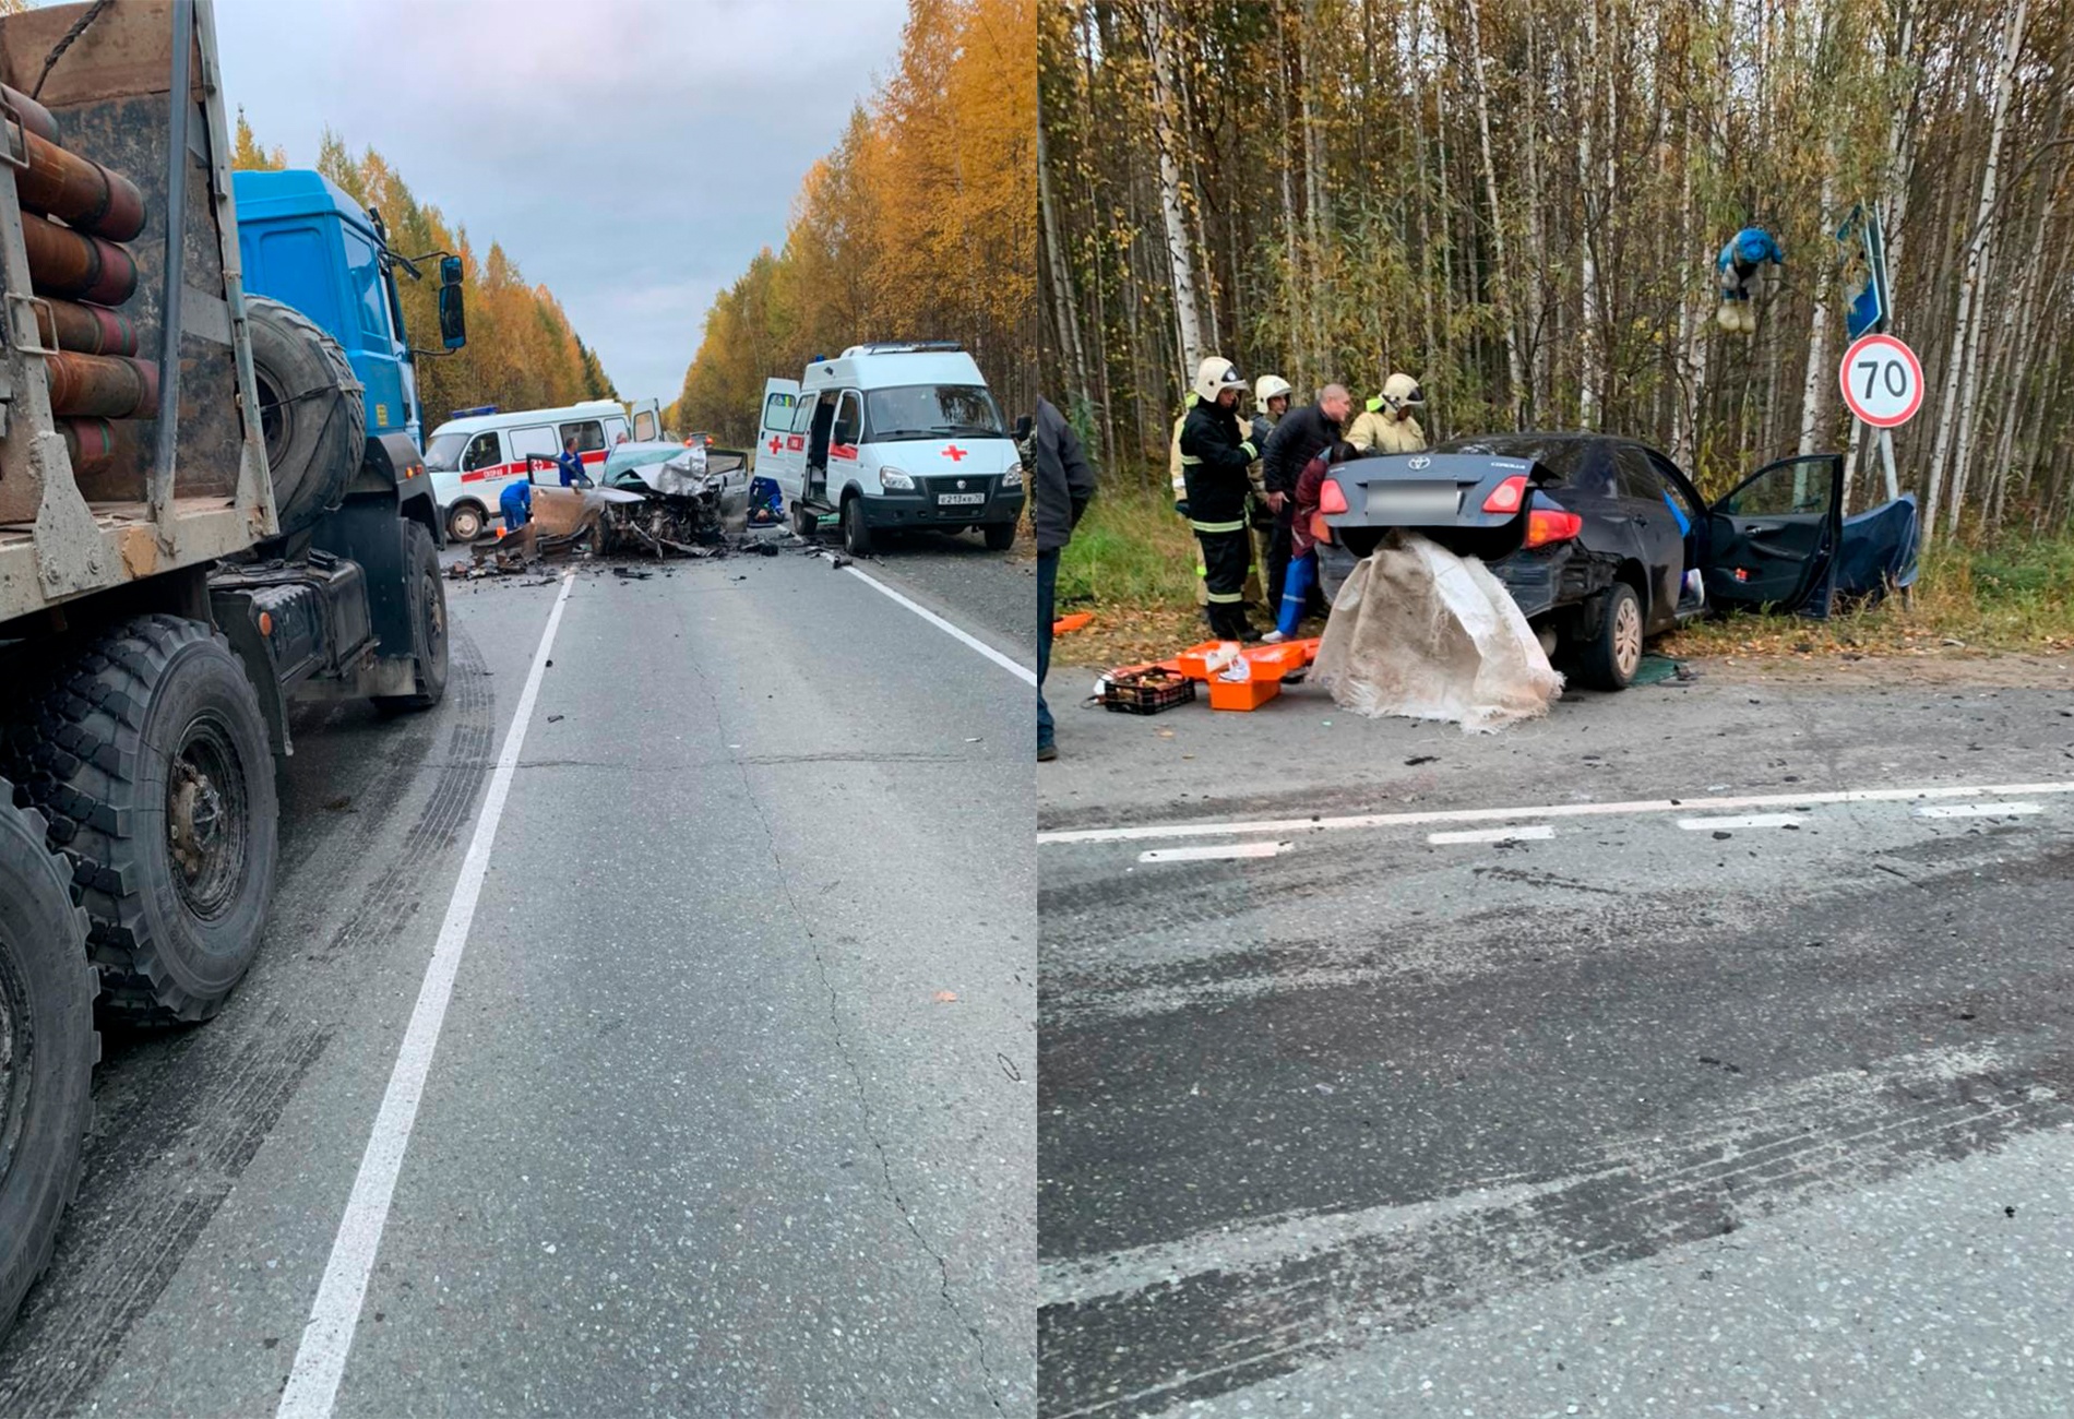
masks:
[[[259,965],[108,1039],[0,1415],[274,1413],[558,595],[297,716]],[[334,1413],[1031,1413],[1029,685],[792,546],[587,568],[548,658]]]

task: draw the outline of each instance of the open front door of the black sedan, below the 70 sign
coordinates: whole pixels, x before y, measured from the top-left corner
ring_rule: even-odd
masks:
[[[1742,479],[1707,508],[1707,600],[1800,610],[1817,591],[1827,593],[1842,508],[1842,454],[1779,458]]]

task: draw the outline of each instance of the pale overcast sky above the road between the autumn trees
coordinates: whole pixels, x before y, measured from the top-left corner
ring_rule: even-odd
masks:
[[[626,398],[676,398],[713,293],[900,50],[904,0],[218,0],[228,108],[334,127],[502,241]],[[438,411],[433,411],[438,417]]]

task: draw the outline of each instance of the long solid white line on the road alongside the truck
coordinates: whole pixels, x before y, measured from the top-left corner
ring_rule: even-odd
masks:
[[[396,1195],[396,1174],[402,1170],[402,1156],[411,1145],[417,1104],[425,1093],[425,1077],[431,1073],[431,1054],[440,1046],[440,1023],[446,1019],[446,1002],[454,994],[454,975],[460,971],[460,954],[469,946],[475,902],[483,892],[483,875],[489,871],[489,846],[498,836],[498,819],[504,817],[504,799],[510,795],[512,772],[518,768],[527,720],[533,718],[539,680],[548,670],[548,653],[554,649],[554,631],[562,624],[562,606],[568,604],[568,589],[574,583],[577,568],[572,566],[562,573],[562,593],[554,597],[554,610],[548,612],[539,649],[533,651],[533,670],[518,695],[518,712],[504,734],[498,766],[489,774],[489,788],[483,792],[483,807],[475,817],[475,836],[469,840],[467,857],[460,859],[460,880],[454,884],[446,919],[440,923],[440,940],[425,965],[417,1008],[411,1010],[411,1025],[404,1029],[388,1091],[382,1095],[382,1112],[375,1114],[367,1151],[361,1153],[361,1172],[353,1178],[346,1216],[338,1222],[338,1236],[332,1239],[332,1257],[324,1265],[324,1280],[317,1282],[317,1301],[309,1309],[309,1326],[303,1328],[303,1342],[297,1346],[295,1367],[288,1371],[288,1388],[282,1390],[276,1411],[278,1419],[328,1419],[332,1404],[338,1402],[338,1380],[346,1373],[353,1332],[361,1321],[367,1276],[373,1272],[375,1251],[382,1247],[382,1228],[388,1226],[390,1199]]]

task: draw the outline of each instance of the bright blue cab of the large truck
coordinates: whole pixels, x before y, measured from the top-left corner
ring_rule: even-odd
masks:
[[[407,434],[423,448],[417,367],[396,299],[398,259],[382,218],[307,168],[234,172],[230,185],[245,290],[292,305],[344,346],[353,375],[367,388],[369,438]],[[460,261],[448,257],[442,286],[458,280]],[[458,349],[454,334],[446,349]]]

